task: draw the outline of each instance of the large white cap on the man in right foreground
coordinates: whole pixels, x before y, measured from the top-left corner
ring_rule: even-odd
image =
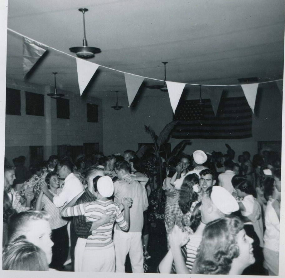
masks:
[[[239,210],[239,204],[235,198],[221,186],[213,186],[210,196],[213,204],[224,214],[231,214]]]

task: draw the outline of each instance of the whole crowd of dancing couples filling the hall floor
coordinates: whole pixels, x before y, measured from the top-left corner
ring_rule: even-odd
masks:
[[[235,161],[196,150],[161,158],[163,184],[149,153],[50,156],[4,166],[3,269],[147,271],[148,200],[162,186],[167,254],[158,273],[278,275],[281,161],[270,150]]]

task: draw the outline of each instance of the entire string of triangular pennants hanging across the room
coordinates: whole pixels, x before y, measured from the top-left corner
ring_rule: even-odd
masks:
[[[51,48],[57,52],[61,52],[65,55],[71,56],[76,59],[76,66],[77,66],[77,75],[78,75],[78,84],[79,84],[79,90],[80,90],[80,96],[84,92],[85,88],[87,87],[89,81],[97,71],[99,67],[104,67],[110,70],[114,70],[116,72],[122,72],[124,73],[125,77],[125,83],[127,88],[127,95],[128,95],[128,102],[129,107],[131,106],[139,87],[142,85],[142,82],[145,78],[162,81],[155,78],[150,77],[143,77],[139,75],[135,75],[128,72],[119,71],[113,68],[105,67],[98,65],[93,62],[86,61],[81,58],[74,57],[68,53],[62,52],[60,50],[57,50],[53,47],[46,46],[40,42],[34,41],[31,38],[28,38],[18,32],[15,32],[9,28],[7,28],[9,31],[16,33],[23,37],[23,73],[24,76],[31,70],[31,68],[36,64],[36,62],[39,60],[39,58],[46,52],[48,48]],[[244,92],[244,96],[246,97],[246,100],[249,104],[249,107],[251,108],[252,112],[254,113],[254,107],[255,107],[255,100],[257,95],[257,89],[258,84],[261,83],[269,83],[269,82],[276,82],[278,89],[281,93],[281,96],[283,94],[283,79],[274,80],[274,81],[267,81],[267,82],[258,82],[258,83],[250,83],[250,84],[234,84],[234,85],[202,85],[202,84],[191,84],[191,83],[180,83],[180,82],[170,82],[166,81],[168,95],[170,99],[170,104],[173,110],[173,113],[175,113],[176,107],[178,105],[178,102],[180,100],[180,97],[182,95],[183,89],[186,85],[193,85],[193,86],[205,86],[205,87],[214,87],[213,93],[210,94],[210,100],[213,107],[213,111],[216,115],[220,98],[222,95],[222,90],[215,88],[215,87],[229,87],[229,86],[241,86],[242,90]]]

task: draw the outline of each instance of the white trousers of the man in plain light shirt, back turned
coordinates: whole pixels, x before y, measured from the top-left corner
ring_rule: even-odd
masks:
[[[123,232],[115,229],[114,246],[116,271],[125,272],[126,256],[129,253],[133,273],[143,273],[142,232]]]

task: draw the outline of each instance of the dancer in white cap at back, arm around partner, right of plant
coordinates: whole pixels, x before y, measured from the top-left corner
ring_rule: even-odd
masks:
[[[207,155],[205,154],[204,151],[201,151],[201,150],[194,151],[193,152],[193,160],[194,160],[193,161],[194,169],[192,171],[189,171],[188,173],[186,173],[185,176],[195,173],[200,177],[200,175],[199,175],[200,171],[203,169],[206,169],[206,167],[203,166],[202,164],[204,164],[207,161]],[[182,185],[183,180],[185,178],[185,176],[181,177],[179,174],[180,174],[179,169],[177,169],[177,173],[174,174],[174,176],[170,180],[170,184],[175,186],[176,190],[181,189],[181,185]]]

